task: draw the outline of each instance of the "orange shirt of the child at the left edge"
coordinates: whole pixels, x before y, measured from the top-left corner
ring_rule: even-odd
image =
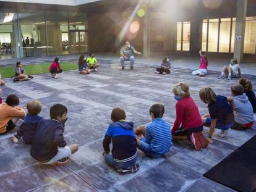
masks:
[[[24,109],[8,106],[6,102],[0,104],[0,133],[6,132],[6,125],[13,117],[24,118]]]

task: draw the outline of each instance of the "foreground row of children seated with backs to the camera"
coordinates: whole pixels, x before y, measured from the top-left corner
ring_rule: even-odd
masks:
[[[173,128],[162,119],[163,104],[153,104],[149,115],[152,122],[134,128],[133,122],[126,121],[126,112],[114,108],[103,139],[103,157],[107,164],[120,173],[134,173],[139,170],[137,148],[151,158],[163,157],[169,152],[172,141],[189,140],[197,151],[213,143],[215,128],[220,129],[221,137],[228,131],[244,130],[254,125],[256,98],[252,92],[250,80],[242,78],[231,86],[233,98],[216,95],[209,88],[199,91],[200,99],[208,104],[208,114],[203,116],[197,104],[190,96],[189,86],[179,83],[173,87],[176,99],[176,120]],[[247,97],[249,95],[249,99]],[[31,144],[30,155],[41,164],[63,165],[69,162],[69,156],[79,149],[78,144],[67,146],[64,140],[64,126],[67,120],[67,108],[55,104],[50,109],[50,119],[38,116],[41,112],[40,101],[27,104],[27,114],[19,105],[19,98],[14,94],[0,104],[0,134],[15,128],[19,119],[23,119],[12,142],[17,143],[22,137],[25,143]],[[208,137],[203,135],[203,126],[210,127]],[[109,145],[112,143],[112,150]]]

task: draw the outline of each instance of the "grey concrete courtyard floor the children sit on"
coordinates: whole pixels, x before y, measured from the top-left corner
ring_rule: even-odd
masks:
[[[120,69],[119,62],[100,61],[98,72],[79,75],[77,70],[64,72],[58,79],[48,74],[35,75],[33,80],[13,83],[6,79],[2,98],[9,94],[20,97],[20,106],[38,99],[43,104],[41,116],[49,118],[49,107],[56,103],[67,106],[69,119],[64,129],[68,144],[78,143],[79,151],[70,157],[69,165],[41,165],[30,157],[30,146],[11,143],[15,131],[0,136],[0,191],[233,191],[208,180],[203,173],[222,161],[256,134],[255,127],[246,131],[229,131],[220,138],[215,131],[214,144],[195,151],[189,141],[173,143],[165,157],[150,159],[139,152],[140,170],[120,175],[101,156],[102,141],[110,122],[111,110],[123,107],[127,120],[135,127],[150,122],[148,109],[161,102],[164,120],[175,120],[173,85],[184,81],[190,86],[192,98],[200,114],[208,109],[198,97],[203,86],[211,86],[217,94],[230,96],[230,86],[237,80],[218,80],[220,72],[211,70],[207,77],[190,75],[186,67],[174,67],[171,75],[156,75],[152,65],[135,64],[134,70]],[[254,70],[255,72],[255,70]],[[256,88],[256,76],[250,78]],[[254,89],[254,91],[256,91]],[[22,121],[20,120],[19,123]],[[208,134],[208,128],[204,128]]]

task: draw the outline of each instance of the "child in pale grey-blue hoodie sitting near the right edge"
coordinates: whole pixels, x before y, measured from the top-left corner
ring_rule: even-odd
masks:
[[[244,93],[242,85],[234,84],[231,86],[231,92],[234,96],[234,130],[244,130],[254,125],[254,111],[252,104]]]

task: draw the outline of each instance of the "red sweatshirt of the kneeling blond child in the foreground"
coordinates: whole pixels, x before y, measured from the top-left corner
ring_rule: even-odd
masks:
[[[176,120],[171,130],[173,135],[180,125],[183,128],[196,128],[203,125],[198,107],[191,97],[182,98],[176,103]]]

